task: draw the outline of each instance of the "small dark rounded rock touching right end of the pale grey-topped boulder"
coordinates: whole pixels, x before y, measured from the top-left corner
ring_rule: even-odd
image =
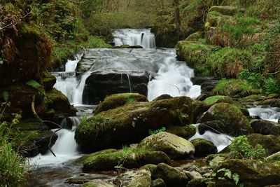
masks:
[[[195,156],[196,157],[205,157],[209,154],[218,153],[217,147],[206,139],[193,139],[190,141],[195,146]]]

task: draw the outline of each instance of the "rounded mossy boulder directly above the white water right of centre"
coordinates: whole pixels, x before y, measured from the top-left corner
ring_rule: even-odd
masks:
[[[225,125],[223,131],[232,136],[251,134],[253,132],[246,116],[234,104],[218,103],[211,106],[200,118],[200,122],[204,123],[210,120],[221,120]]]

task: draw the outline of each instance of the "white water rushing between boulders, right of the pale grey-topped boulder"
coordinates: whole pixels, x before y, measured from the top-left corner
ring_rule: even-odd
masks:
[[[195,127],[198,127],[198,125],[200,124],[195,124]],[[216,134],[214,132],[211,132],[210,130],[205,131],[204,134],[200,134],[200,132],[198,132],[197,130],[195,136],[191,137],[188,140],[190,141],[192,139],[197,138],[211,141],[217,147],[218,152],[222,151],[226,146],[230,145],[232,143],[232,141],[230,140],[233,139],[232,137],[226,134]]]

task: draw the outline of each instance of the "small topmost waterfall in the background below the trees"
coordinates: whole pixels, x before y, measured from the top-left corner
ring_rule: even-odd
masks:
[[[116,46],[130,45],[155,48],[155,35],[151,29],[117,29],[113,32]]]

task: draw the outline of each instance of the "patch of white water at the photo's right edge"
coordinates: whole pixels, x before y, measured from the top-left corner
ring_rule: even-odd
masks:
[[[277,107],[254,106],[248,109],[250,116],[260,116],[263,120],[278,122],[280,109]]]

